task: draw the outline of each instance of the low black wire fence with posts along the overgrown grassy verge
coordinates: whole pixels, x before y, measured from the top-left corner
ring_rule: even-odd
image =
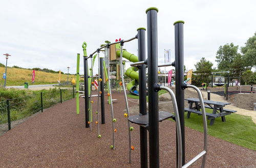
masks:
[[[75,88],[42,91],[0,102],[0,135],[57,103],[75,97]]]

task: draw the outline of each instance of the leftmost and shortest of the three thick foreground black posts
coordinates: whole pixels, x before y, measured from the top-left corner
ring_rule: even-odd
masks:
[[[141,27],[138,31],[138,57],[139,61],[146,58],[145,52],[145,31]],[[146,65],[139,66],[139,108],[140,114],[146,115]],[[140,167],[147,167],[147,130],[140,126]]]

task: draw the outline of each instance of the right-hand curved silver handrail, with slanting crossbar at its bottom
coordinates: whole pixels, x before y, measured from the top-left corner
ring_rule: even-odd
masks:
[[[205,167],[205,161],[206,161],[206,154],[207,154],[207,121],[206,121],[206,114],[205,114],[205,108],[204,108],[204,101],[203,101],[203,96],[201,94],[201,91],[198,89],[198,87],[194,86],[194,85],[187,85],[187,88],[193,88],[197,91],[198,93],[198,97],[201,103],[201,107],[202,107],[202,115],[203,115],[203,125],[204,125],[204,150],[199,153],[196,157],[194,157],[193,159],[191,159],[189,162],[187,162],[186,164],[184,164],[182,167],[188,167],[191,164],[193,164],[194,162],[196,162],[199,158],[201,158],[203,156],[203,160],[202,160],[202,164],[201,167]]]

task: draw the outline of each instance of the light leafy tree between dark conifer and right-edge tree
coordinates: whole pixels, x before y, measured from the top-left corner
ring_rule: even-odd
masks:
[[[238,45],[233,43],[225,44],[219,47],[216,53],[216,62],[218,69],[221,71],[229,71],[234,59],[238,56]]]

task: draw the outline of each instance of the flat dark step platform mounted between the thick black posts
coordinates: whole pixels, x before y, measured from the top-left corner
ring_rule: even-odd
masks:
[[[159,122],[169,119],[169,118],[173,118],[174,115],[165,111],[159,111]],[[128,120],[131,123],[134,124],[139,124],[139,125],[148,125],[148,113],[146,115],[134,115],[134,116],[130,116],[128,118]]]

